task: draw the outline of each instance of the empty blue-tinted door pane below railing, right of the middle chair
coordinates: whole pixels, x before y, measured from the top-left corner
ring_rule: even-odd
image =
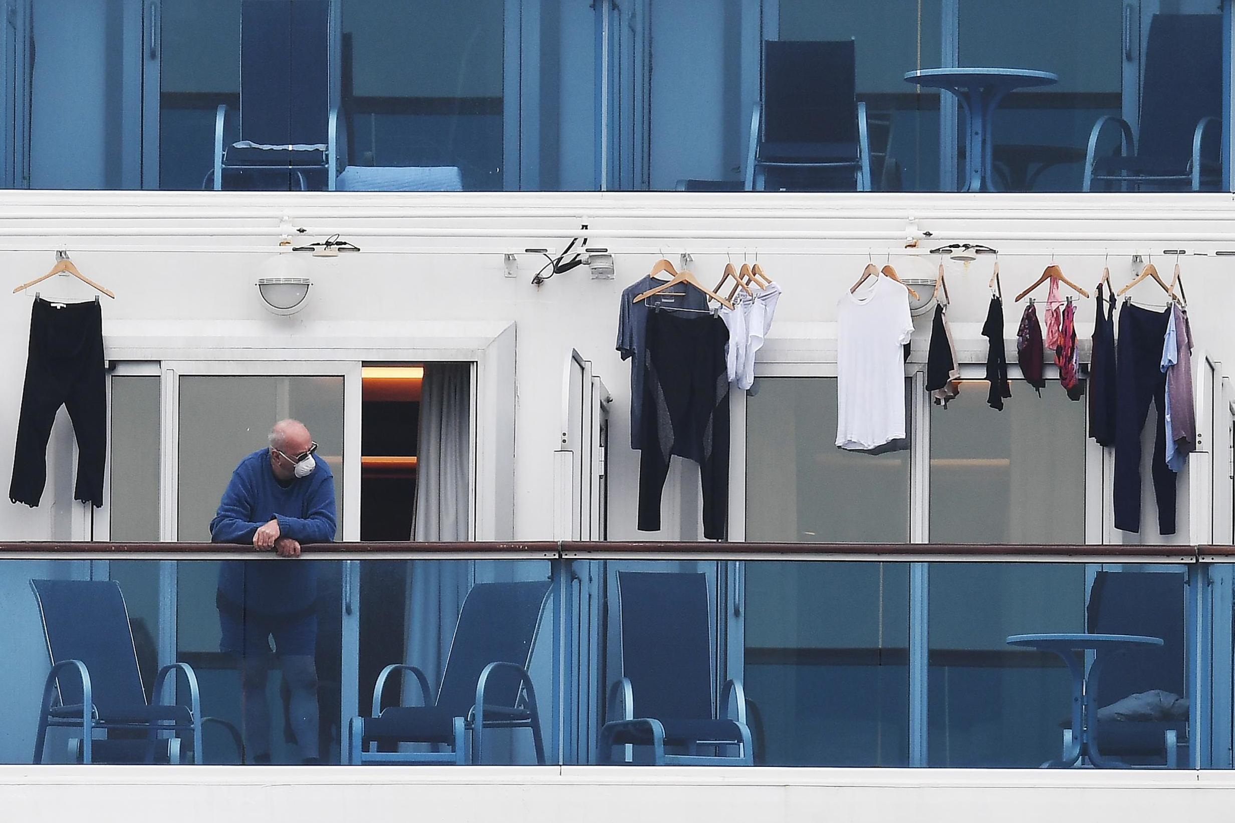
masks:
[[[755,761],[909,765],[909,564],[742,566]]]

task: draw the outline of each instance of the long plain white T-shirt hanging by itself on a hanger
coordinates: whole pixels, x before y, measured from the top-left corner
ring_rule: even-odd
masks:
[[[836,305],[836,445],[874,449],[905,437],[905,360],[914,333],[909,290],[872,278]]]

